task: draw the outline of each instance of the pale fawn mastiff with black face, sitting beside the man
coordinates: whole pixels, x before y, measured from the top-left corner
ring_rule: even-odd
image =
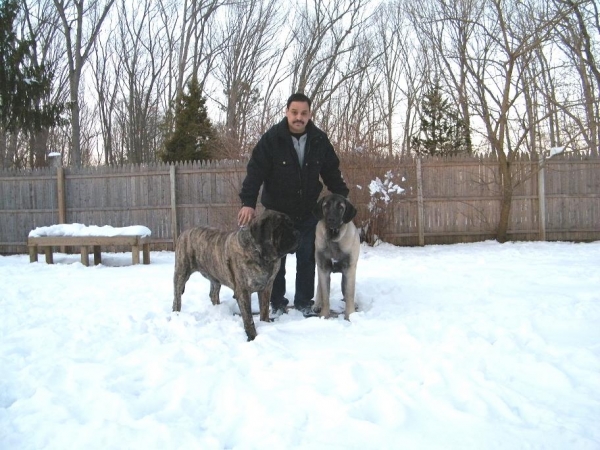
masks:
[[[315,261],[317,263],[317,295],[313,310],[329,317],[331,273],[342,273],[342,294],[346,301],[345,318],[355,311],[354,294],[356,264],[360,253],[360,237],[352,219],[356,208],[343,196],[331,194],[317,203]]]

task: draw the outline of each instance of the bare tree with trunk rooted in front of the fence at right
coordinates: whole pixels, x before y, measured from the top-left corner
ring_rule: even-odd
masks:
[[[519,120],[523,67],[547,42],[560,17],[535,14],[539,2],[484,0],[485,11],[470,44],[467,70],[473,108],[498,157],[501,204],[496,239],[505,242],[514,190],[511,163],[529,136]]]

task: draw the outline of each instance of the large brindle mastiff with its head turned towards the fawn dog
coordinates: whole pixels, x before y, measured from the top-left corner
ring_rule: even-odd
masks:
[[[173,311],[181,311],[185,283],[194,272],[210,281],[210,300],[218,305],[221,285],[233,290],[240,307],[244,330],[256,337],[250,296],[258,292],[260,320],[269,320],[269,300],[281,257],[296,250],[298,232],[285,214],[265,211],[235,232],[192,228],[181,233],[175,250],[175,299]]]

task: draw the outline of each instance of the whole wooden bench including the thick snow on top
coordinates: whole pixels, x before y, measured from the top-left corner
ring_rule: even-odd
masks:
[[[150,264],[150,235],[150,229],[142,225],[114,228],[109,225],[99,227],[71,223],[38,227],[29,232],[27,239],[29,262],[36,262],[38,249],[42,249],[46,255],[46,263],[53,264],[54,246],[74,246],[81,248],[81,263],[85,266],[89,265],[89,247],[92,247],[94,264],[98,265],[102,262],[102,246],[131,245],[132,263],[140,263],[141,247],[143,263]]]

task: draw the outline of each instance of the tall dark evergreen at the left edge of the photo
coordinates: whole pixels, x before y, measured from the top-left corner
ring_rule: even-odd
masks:
[[[18,0],[0,1],[0,127],[39,131],[60,122],[64,105],[48,104],[52,73],[32,58],[33,39],[19,39]]]

